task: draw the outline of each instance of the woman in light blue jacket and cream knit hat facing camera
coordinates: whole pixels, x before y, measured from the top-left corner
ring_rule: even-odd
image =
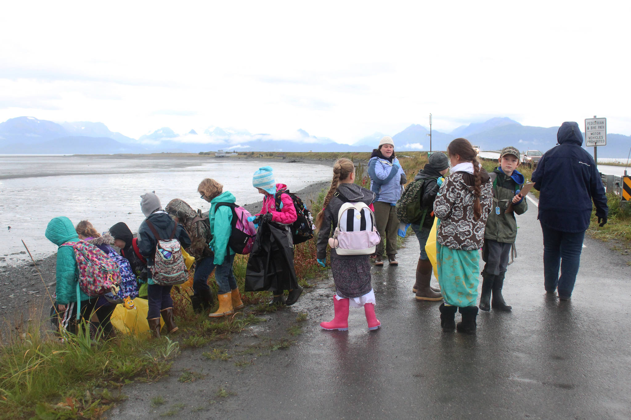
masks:
[[[386,254],[390,265],[399,264],[396,261],[396,237],[399,219],[396,216],[396,202],[401,198],[401,185],[408,182],[405,172],[401,169],[399,159],[394,155],[394,140],[386,135],[379,142],[379,147],[372,150],[368,164],[370,176],[370,190],[375,193],[375,223],[381,236],[381,243],[377,245],[375,265],[384,265],[384,239],[386,239]]]

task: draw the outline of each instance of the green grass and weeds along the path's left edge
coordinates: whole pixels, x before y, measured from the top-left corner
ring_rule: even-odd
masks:
[[[324,193],[305,203],[317,214]],[[42,309],[33,310],[29,319],[11,322],[0,336],[0,419],[97,419],[116,402],[126,397],[123,385],[155,381],[167,375],[172,359],[184,348],[203,348],[227,339],[243,329],[266,321],[262,315],[283,307],[269,306],[269,292],[243,292],[247,256],[237,255],[234,273],[242,291],[245,309],[216,319],[194,314],[190,304],[192,273],[189,281],[172,292],[179,333],[159,340],[148,336],[119,334],[109,341],[93,340],[85,334],[66,334],[63,341],[53,331]],[[302,287],[313,287],[326,275],[315,261],[315,240],[298,244],[295,269]],[[214,279],[213,279],[214,280]],[[210,281],[215,287],[215,281]],[[216,310],[216,304],[213,312]],[[307,314],[298,314],[297,322]],[[42,321],[44,320],[44,321]],[[42,325],[42,323],[44,323]],[[288,336],[302,330],[292,327]],[[270,349],[284,349],[294,341],[281,339]],[[245,362],[241,362],[245,363]],[[192,382],[194,373],[182,375]],[[160,404],[156,400],[155,404]]]

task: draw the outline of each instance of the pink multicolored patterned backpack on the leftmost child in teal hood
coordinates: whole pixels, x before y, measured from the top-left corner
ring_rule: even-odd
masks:
[[[86,241],[64,242],[61,246],[71,246],[79,269],[78,287],[90,297],[117,292],[121,283],[118,264],[96,245]],[[79,295],[77,295],[79,298]]]

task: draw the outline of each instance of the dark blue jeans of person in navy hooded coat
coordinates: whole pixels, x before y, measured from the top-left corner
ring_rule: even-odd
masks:
[[[576,274],[581,263],[583,232],[561,232],[541,224],[543,231],[543,278],[546,292],[572,296]],[[559,267],[561,276],[558,275]]]

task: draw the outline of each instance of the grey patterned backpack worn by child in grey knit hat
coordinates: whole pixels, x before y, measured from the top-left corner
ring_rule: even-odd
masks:
[[[177,224],[168,239],[160,239],[158,231],[149,220],[145,220],[149,229],[156,238],[156,252],[151,266],[151,280],[160,286],[180,285],[189,280],[189,271],[186,270],[182,246],[174,238]]]

